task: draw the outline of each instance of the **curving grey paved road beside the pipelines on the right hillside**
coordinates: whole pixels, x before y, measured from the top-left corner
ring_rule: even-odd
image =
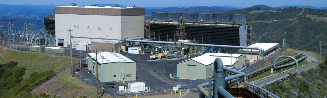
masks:
[[[318,60],[318,59],[317,59],[317,56],[316,56],[315,54],[312,54],[312,53],[310,53],[310,52],[304,52],[304,51],[295,51],[295,52],[297,52],[297,53],[303,53],[303,54],[305,54],[305,55],[308,55],[308,57],[306,58],[306,60],[307,60],[308,62],[310,62],[309,65],[306,65],[306,66],[300,67],[300,68],[299,68],[299,72],[298,72],[298,74],[300,74],[301,72],[307,71],[307,70],[309,70],[309,69],[311,69],[311,68],[316,68],[316,67],[317,67],[317,65],[318,65],[317,60]],[[270,81],[272,81],[272,80],[275,80],[275,79],[277,79],[277,78],[279,78],[279,77],[282,77],[282,76],[284,76],[284,75],[286,75],[286,74],[292,73],[292,72],[294,72],[294,71],[295,71],[295,69],[294,69],[294,70],[291,70],[291,71],[288,71],[288,72],[285,72],[285,73],[283,73],[283,74],[279,74],[279,75],[276,75],[276,76],[270,77],[270,78],[268,78],[268,79],[265,79],[265,80],[262,80],[262,81],[256,82],[256,83],[254,83],[254,84],[260,86],[260,85],[263,85],[263,84],[265,84],[265,83],[267,83],[267,82],[270,82]]]

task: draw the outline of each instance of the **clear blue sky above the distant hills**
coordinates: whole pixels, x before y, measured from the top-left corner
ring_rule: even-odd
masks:
[[[177,2],[178,1],[178,2]],[[136,7],[178,7],[178,6],[236,6],[247,8],[254,5],[279,7],[285,5],[326,7],[327,0],[0,0],[9,5],[69,5],[120,4]]]

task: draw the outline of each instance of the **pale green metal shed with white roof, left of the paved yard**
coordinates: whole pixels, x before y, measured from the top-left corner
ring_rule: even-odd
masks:
[[[96,54],[88,54],[89,70],[96,75]],[[98,79],[102,82],[132,81],[136,79],[136,63],[119,53],[100,52],[97,54]],[[91,59],[90,59],[91,58]],[[103,79],[102,79],[103,78]]]

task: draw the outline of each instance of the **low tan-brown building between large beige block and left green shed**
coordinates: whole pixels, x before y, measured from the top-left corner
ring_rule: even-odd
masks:
[[[97,49],[97,51],[108,51],[108,52],[118,52],[121,46],[120,42],[110,42],[110,41],[94,41],[91,42],[92,51]]]

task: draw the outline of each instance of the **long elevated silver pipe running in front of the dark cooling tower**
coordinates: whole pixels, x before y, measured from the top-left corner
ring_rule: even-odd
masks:
[[[175,42],[166,42],[166,41],[144,41],[144,40],[129,40],[123,39],[122,41],[126,42],[144,42],[144,43],[161,43],[161,44],[175,44]],[[230,46],[230,45],[215,45],[215,44],[200,44],[200,43],[184,43],[184,45],[189,46],[204,46],[204,47],[220,47],[220,48],[242,48],[242,49],[255,49],[259,50],[259,59],[261,60],[262,51],[259,47],[247,47],[247,46]]]

